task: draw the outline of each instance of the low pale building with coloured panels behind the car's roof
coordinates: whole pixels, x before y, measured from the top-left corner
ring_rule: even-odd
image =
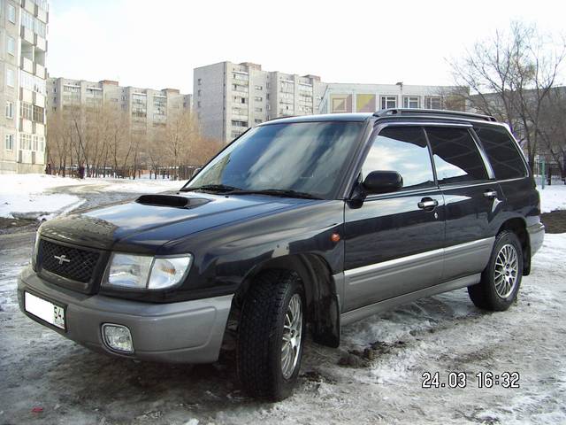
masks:
[[[327,83],[317,113],[375,112],[387,108],[455,109],[465,104],[453,86]]]

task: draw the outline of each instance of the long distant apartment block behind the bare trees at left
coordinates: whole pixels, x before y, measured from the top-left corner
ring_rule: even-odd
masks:
[[[192,96],[178,89],[140,89],[124,87],[119,81],[84,81],[49,78],[47,81],[48,115],[77,108],[115,105],[127,114],[131,129],[147,132],[164,127],[175,112],[189,111]]]

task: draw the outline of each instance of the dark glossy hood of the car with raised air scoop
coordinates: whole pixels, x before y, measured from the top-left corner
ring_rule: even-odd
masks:
[[[154,253],[164,243],[208,228],[311,202],[309,199],[196,192],[148,196],[47,221],[42,225],[41,234],[92,248]],[[186,205],[181,206],[184,203]],[[144,237],[146,232],[147,237]],[[130,242],[133,240],[135,243]]]

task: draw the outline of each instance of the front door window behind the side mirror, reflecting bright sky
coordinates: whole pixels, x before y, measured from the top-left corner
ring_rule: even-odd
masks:
[[[403,178],[403,188],[434,186],[431,157],[423,129],[383,129],[365,158],[362,178],[372,171],[396,171]]]

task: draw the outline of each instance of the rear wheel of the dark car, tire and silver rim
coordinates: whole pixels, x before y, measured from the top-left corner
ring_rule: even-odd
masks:
[[[484,310],[502,312],[515,302],[523,278],[523,249],[515,233],[503,230],[495,238],[492,255],[481,281],[468,287],[473,303]]]

